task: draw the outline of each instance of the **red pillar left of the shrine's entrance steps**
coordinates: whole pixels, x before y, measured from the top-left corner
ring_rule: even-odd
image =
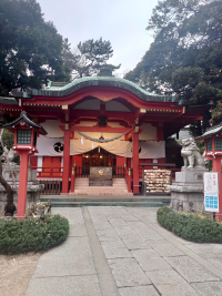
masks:
[[[62,174],[62,193],[69,192],[69,171],[70,171],[70,131],[64,131],[64,150],[63,150],[63,174]]]

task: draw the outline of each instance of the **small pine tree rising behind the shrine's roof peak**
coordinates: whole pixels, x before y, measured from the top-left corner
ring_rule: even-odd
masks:
[[[69,67],[72,69],[73,79],[97,75],[101,68],[110,68],[117,70],[119,65],[107,64],[112,58],[113,49],[110,41],[89,39],[79,42],[77,49],[69,55]]]

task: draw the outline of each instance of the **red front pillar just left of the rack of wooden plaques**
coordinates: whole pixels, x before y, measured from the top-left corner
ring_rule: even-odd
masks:
[[[140,192],[139,187],[139,134],[134,133],[132,137],[132,163],[133,163],[133,193],[138,194]]]

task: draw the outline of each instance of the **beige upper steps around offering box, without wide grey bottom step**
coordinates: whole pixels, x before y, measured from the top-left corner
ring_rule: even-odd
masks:
[[[113,178],[112,186],[89,186],[88,177],[77,177],[74,183],[74,192],[69,193],[70,196],[133,196],[128,192],[124,178]]]

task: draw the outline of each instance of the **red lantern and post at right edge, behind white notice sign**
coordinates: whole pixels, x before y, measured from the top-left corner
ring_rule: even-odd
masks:
[[[211,160],[213,163],[213,172],[219,173],[219,220],[221,221],[222,214],[222,123],[211,126],[204,134],[199,136],[196,141],[204,141],[205,153],[204,157]]]

